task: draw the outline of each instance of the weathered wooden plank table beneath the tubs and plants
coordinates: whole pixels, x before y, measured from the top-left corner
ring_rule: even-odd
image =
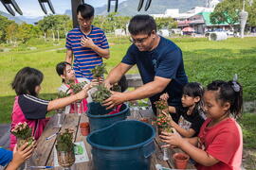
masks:
[[[131,110],[131,116],[128,119],[137,119],[139,120],[142,117],[152,118],[154,116],[152,110]],[[55,132],[64,131],[65,128],[73,128],[74,132],[74,142],[83,142],[87,155],[89,157],[89,161],[75,163],[71,169],[75,170],[90,170],[92,169],[92,158],[91,158],[91,145],[86,142],[86,136],[82,136],[80,131],[80,123],[87,122],[88,117],[85,114],[79,116],[78,114],[64,114],[64,121],[62,127],[53,127],[54,121],[57,120],[57,115],[54,115],[50,118],[49,122],[46,125],[46,128],[42,134],[42,136],[38,140],[37,148],[32,156],[31,162],[32,165],[36,166],[54,166],[54,157],[53,157],[53,148],[56,144],[56,136],[51,138],[50,140],[46,140],[46,137],[54,134]],[[159,139],[155,137],[155,153],[160,151],[160,143]],[[170,155],[173,155],[175,152],[180,152],[178,148],[170,149]],[[151,170],[155,170],[155,164],[161,164],[164,167],[169,167],[171,169],[174,168],[174,161],[172,156],[169,161],[160,161],[156,158],[156,154],[152,155],[152,163]],[[192,163],[189,163],[187,166],[188,169],[195,169]],[[63,169],[63,167],[55,167],[54,169]]]

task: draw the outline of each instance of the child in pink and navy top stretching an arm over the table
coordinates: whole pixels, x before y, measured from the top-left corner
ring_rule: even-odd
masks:
[[[12,89],[17,94],[11,114],[11,128],[19,122],[27,122],[27,125],[32,128],[32,134],[36,140],[46,127],[47,111],[64,108],[66,105],[86,98],[88,96],[87,91],[97,84],[97,82],[92,82],[84,87],[80,93],[47,101],[38,98],[43,77],[43,73],[39,70],[25,67],[17,73],[11,83]],[[9,148],[12,150],[16,143],[16,137],[10,134]]]

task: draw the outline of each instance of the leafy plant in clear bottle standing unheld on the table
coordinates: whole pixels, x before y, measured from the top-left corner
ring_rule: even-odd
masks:
[[[70,167],[75,162],[75,153],[73,144],[73,129],[65,128],[57,136],[57,156],[58,162],[63,167]]]

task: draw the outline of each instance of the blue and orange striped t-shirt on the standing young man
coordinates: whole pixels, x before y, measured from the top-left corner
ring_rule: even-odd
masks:
[[[92,79],[91,69],[102,64],[102,57],[91,48],[82,47],[81,39],[85,36],[79,27],[68,32],[65,47],[71,49],[74,54],[74,70],[76,77]],[[108,49],[108,42],[101,28],[92,26],[91,32],[86,35],[102,49]]]

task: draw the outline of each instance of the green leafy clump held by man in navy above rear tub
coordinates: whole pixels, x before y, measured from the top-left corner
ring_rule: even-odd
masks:
[[[92,93],[92,99],[94,102],[102,103],[105,99],[111,96],[110,91],[105,88],[103,84],[96,86],[97,91]]]

